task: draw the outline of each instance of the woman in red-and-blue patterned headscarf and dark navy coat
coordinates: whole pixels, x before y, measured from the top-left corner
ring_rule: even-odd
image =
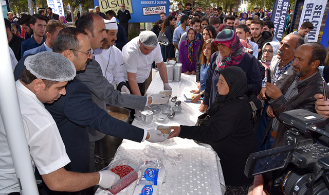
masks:
[[[228,66],[238,66],[247,75],[248,87],[244,92],[251,96],[261,90],[261,74],[257,60],[244,51],[244,48],[233,30],[225,29],[217,34],[215,43],[218,47],[210,59],[210,67],[206,79],[204,101],[200,105],[200,112],[206,111],[216,97],[216,83],[220,76],[219,70]]]

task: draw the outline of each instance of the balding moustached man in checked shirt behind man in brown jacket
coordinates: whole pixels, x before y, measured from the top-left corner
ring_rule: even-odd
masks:
[[[263,79],[260,99],[265,101],[269,100],[265,96],[267,85],[270,85],[269,87],[272,88],[273,86],[280,88],[285,82],[285,80],[290,75],[294,74],[294,66],[292,66],[292,64],[295,60],[295,51],[302,44],[304,44],[303,38],[297,36],[296,34],[290,34],[280,42],[278,56],[273,56],[270,64],[271,81],[267,81],[266,77]],[[270,149],[274,141],[273,135],[269,135],[268,141],[263,140],[266,133],[266,124],[269,123],[269,120],[267,119],[266,115],[266,110],[267,104],[264,105],[260,126],[257,131],[257,145],[259,150]],[[262,121],[265,122],[265,125],[261,124]]]

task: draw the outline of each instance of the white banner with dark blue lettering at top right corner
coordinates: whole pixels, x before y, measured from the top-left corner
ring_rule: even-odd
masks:
[[[308,42],[317,42],[318,36],[320,32],[320,27],[322,23],[323,13],[325,11],[325,6],[327,4],[327,0],[305,0],[304,6],[302,9],[302,14],[299,21],[298,29],[300,29],[301,25],[304,22],[311,22],[314,26],[306,36],[308,38]]]

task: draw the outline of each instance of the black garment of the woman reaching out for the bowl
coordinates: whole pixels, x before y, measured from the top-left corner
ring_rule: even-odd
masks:
[[[244,174],[249,154],[257,151],[247,101],[236,99],[228,102],[204,126],[180,128],[179,137],[206,142],[217,152],[225,184],[242,186],[253,181]]]

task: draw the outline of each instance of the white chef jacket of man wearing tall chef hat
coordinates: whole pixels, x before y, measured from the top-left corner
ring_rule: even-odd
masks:
[[[125,82],[125,65],[122,52],[116,46],[95,49],[95,60],[100,64],[103,76],[113,86]]]

